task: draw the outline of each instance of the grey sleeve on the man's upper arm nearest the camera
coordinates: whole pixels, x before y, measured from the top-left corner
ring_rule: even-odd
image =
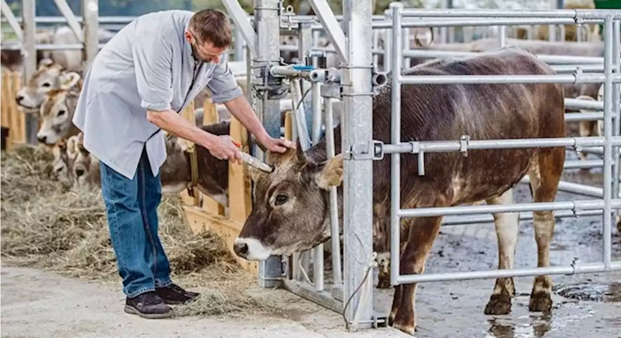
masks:
[[[157,28],[137,29],[132,45],[140,105],[148,110],[168,110],[173,100],[173,50]]]

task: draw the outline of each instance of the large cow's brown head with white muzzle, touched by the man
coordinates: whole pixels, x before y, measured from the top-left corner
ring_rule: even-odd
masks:
[[[343,179],[343,158],[315,162],[301,146],[268,153],[272,172],[248,166],[255,203],[235,239],[235,253],[248,260],[311,249],[330,238],[328,189]]]

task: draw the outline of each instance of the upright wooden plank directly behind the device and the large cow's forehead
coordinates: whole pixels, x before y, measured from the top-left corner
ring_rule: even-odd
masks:
[[[230,136],[233,141],[242,145],[242,151],[248,153],[248,134],[235,117],[231,117]],[[229,162],[229,218],[243,222],[252,211],[250,196],[250,177],[245,166]],[[241,229],[241,228],[240,228]]]

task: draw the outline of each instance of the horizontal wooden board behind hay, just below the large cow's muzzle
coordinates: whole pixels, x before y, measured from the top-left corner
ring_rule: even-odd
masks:
[[[258,262],[250,262],[238,257],[235,252],[233,252],[235,238],[237,238],[237,234],[239,233],[239,229],[242,228],[243,223],[240,224],[235,221],[227,220],[224,216],[207,213],[198,207],[184,206],[183,209],[186,211],[186,218],[194,233],[199,233],[202,229],[214,231],[224,240],[229,252],[235,257],[235,260],[241,265],[242,269],[252,274],[258,274]]]

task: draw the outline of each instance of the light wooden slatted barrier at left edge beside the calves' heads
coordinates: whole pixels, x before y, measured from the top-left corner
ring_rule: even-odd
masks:
[[[25,114],[17,109],[15,101],[21,80],[22,73],[0,68],[0,127],[8,128],[7,149],[26,140]]]

